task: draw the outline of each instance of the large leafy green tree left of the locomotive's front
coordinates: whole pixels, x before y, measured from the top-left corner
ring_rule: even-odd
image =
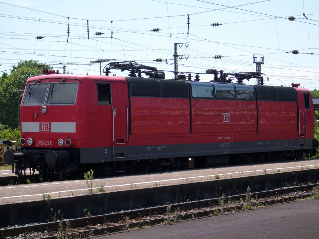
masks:
[[[41,74],[43,69],[52,68],[45,63],[29,60],[12,66],[10,75],[3,74],[0,80],[0,124],[18,128],[18,100],[21,101],[22,92],[14,90],[24,89],[27,79]]]

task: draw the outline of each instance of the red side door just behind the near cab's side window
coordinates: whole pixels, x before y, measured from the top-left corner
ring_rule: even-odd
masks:
[[[113,143],[125,144],[129,141],[128,90],[125,83],[112,83]]]

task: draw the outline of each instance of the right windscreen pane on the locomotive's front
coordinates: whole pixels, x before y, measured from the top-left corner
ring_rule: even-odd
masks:
[[[73,105],[77,98],[77,82],[50,83],[47,104],[48,105]]]

